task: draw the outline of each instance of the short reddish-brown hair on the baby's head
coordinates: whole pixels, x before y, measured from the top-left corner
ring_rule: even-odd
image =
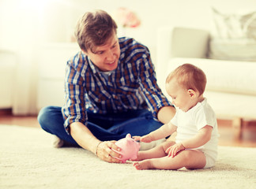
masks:
[[[200,95],[205,91],[205,73],[195,65],[180,65],[168,75],[166,83],[169,83],[174,78],[185,89],[193,89],[194,91],[198,91]]]

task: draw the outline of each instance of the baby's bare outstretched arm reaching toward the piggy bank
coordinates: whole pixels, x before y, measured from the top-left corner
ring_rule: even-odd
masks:
[[[171,123],[164,124],[162,127],[156,129],[156,131],[150,132],[148,135],[144,136],[134,136],[134,139],[140,140],[144,143],[150,143],[154,140],[164,139],[168,135],[171,135],[177,130],[177,127]]]

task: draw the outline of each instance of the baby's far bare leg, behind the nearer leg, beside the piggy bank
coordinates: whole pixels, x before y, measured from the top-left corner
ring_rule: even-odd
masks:
[[[137,154],[137,159],[135,161],[141,161],[141,160],[151,159],[151,158],[162,158],[167,155],[165,153],[165,150],[167,150],[168,147],[173,144],[175,144],[175,142],[166,141],[150,150],[139,151]]]

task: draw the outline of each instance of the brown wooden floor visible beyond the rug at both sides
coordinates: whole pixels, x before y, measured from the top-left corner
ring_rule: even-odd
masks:
[[[1,111],[0,124],[40,128],[36,116],[18,117],[12,116],[11,113],[1,113]],[[220,133],[220,146],[256,147],[256,121],[243,122],[242,136],[240,139],[236,139],[233,135],[231,120],[218,120],[218,129]]]

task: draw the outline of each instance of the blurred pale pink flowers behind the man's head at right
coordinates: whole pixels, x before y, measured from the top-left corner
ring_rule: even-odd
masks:
[[[136,28],[141,24],[141,20],[138,19],[137,15],[130,9],[120,7],[115,11],[113,17],[117,24],[121,24],[122,27]]]

